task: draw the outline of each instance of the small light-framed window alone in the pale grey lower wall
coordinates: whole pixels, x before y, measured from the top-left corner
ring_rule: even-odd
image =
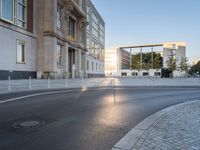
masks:
[[[17,41],[17,63],[26,62],[26,43]]]

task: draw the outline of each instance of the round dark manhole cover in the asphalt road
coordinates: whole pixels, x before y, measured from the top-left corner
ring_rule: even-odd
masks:
[[[21,122],[16,122],[13,124],[14,128],[17,129],[34,129],[44,125],[44,121],[38,120],[26,120]]]

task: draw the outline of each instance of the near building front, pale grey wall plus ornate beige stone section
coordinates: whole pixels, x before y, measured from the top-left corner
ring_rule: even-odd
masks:
[[[0,79],[86,73],[86,0],[0,0]]]

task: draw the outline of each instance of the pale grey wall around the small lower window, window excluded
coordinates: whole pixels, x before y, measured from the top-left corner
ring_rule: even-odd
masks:
[[[17,40],[26,42],[26,64],[16,63]],[[0,70],[36,71],[36,48],[34,37],[0,25]]]

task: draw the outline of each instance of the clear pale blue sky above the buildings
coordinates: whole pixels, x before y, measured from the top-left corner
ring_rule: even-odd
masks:
[[[106,47],[187,43],[200,58],[200,0],[92,0],[106,23]]]

